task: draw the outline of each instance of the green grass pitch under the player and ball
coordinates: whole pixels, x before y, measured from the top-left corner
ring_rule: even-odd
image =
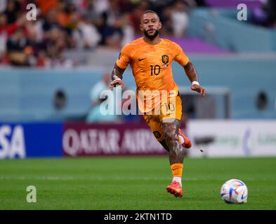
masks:
[[[167,156],[0,160],[0,209],[276,209],[276,158],[186,158],[182,198],[166,193]],[[220,189],[241,179],[248,202]],[[37,202],[27,203],[27,186]]]

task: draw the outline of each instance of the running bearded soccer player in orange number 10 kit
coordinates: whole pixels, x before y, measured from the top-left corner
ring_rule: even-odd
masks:
[[[178,85],[173,80],[171,62],[175,60],[183,66],[192,83],[191,90],[199,92],[202,97],[205,95],[205,90],[199,85],[195,66],[190,62],[180,45],[159,37],[161,27],[162,23],[157,13],[152,10],[143,13],[140,19],[140,29],[144,35],[124,45],[121,49],[119,59],[114,64],[112,71],[110,89],[113,90],[116,85],[124,87],[123,73],[130,64],[136,80],[137,97],[139,98],[139,91],[152,91],[152,102],[155,103],[152,104],[151,109],[147,108],[147,104],[146,107],[145,104],[141,104],[145,100],[143,97],[138,99],[138,107],[143,112],[145,121],[150,126],[157,141],[169,151],[173,181],[171,185],[166,187],[166,190],[175,197],[182,197],[183,160],[185,148],[191,147],[191,141],[185,137],[179,128],[182,102]],[[154,101],[153,98],[157,97],[158,91],[169,92],[166,99],[161,98],[159,101]],[[161,107],[159,113],[155,111],[157,106]]]

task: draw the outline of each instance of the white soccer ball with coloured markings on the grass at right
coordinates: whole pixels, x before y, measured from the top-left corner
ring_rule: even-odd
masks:
[[[230,204],[247,202],[247,186],[244,182],[231,179],[221,187],[221,199]]]

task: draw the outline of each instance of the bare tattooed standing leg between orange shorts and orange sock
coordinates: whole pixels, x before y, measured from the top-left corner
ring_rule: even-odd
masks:
[[[162,123],[164,134],[166,137],[166,145],[169,147],[169,162],[183,163],[185,157],[185,149],[178,139],[180,120],[173,120],[172,123]]]

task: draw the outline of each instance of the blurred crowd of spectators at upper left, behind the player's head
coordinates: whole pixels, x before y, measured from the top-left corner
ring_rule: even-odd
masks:
[[[36,6],[35,20],[27,20],[29,3]],[[78,61],[65,59],[66,49],[120,48],[140,34],[140,17],[148,9],[159,13],[162,34],[185,36],[196,5],[196,0],[1,0],[0,64],[74,66]]]

